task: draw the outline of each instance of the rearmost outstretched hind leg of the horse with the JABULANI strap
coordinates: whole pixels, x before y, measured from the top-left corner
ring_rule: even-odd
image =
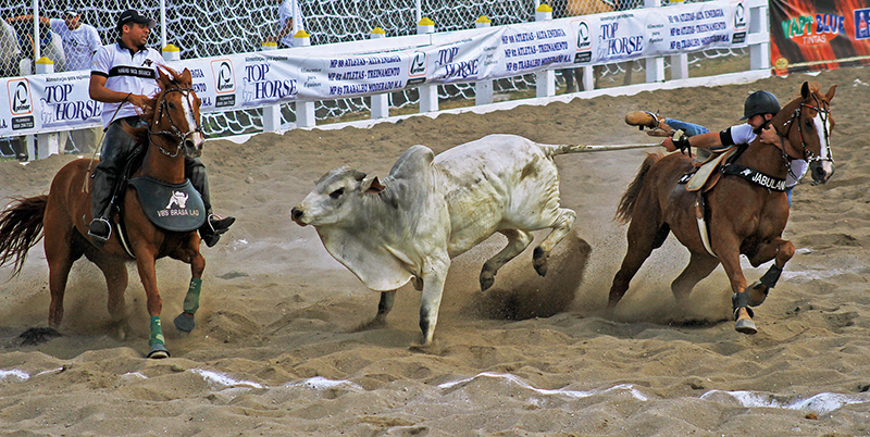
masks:
[[[613,276],[613,285],[610,287],[610,295],[607,301],[608,312],[613,311],[617,303],[625,296],[629,285],[644,261],[649,258],[654,249],[661,247],[668,235],[671,233],[667,224],[659,225],[650,214],[635,211],[629,225],[629,250],[622,260],[622,266]],[[657,227],[658,226],[658,227]]]

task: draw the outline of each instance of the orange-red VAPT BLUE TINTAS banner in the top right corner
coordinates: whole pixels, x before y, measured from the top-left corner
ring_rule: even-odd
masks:
[[[773,73],[870,64],[870,0],[771,0]]]

